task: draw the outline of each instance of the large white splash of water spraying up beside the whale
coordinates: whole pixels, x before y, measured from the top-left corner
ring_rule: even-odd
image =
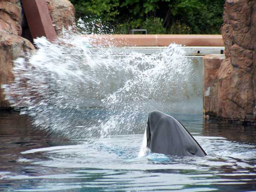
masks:
[[[41,129],[87,138],[143,132],[149,111],[184,101],[193,71],[180,45],[118,56],[92,41],[69,32],[35,39],[38,50],[14,62],[6,99]]]

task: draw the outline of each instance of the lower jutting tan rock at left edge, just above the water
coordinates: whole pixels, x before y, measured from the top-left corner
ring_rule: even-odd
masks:
[[[0,32],[0,84],[7,84],[13,80],[13,60],[23,57],[26,52],[35,49],[30,41],[18,35]],[[10,108],[4,100],[3,90],[0,89],[0,109]]]

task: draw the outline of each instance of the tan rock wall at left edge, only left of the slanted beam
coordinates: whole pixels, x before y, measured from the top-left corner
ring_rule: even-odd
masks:
[[[33,44],[22,35],[22,14],[20,0],[0,1],[0,85],[13,80],[13,60],[22,57],[25,52],[35,49]],[[9,109],[0,89],[0,109]]]

